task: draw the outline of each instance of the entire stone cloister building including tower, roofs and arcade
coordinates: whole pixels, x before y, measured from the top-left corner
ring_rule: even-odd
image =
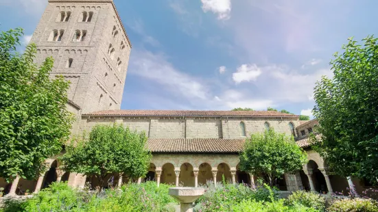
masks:
[[[308,135],[316,120],[302,122],[298,116],[276,111],[154,111],[120,110],[131,44],[113,0],[49,0],[31,42],[37,46],[36,62],[54,57],[51,78],[61,75],[71,81],[67,108],[77,121],[73,135],[91,131],[96,124],[122,123],[149,137],[152,161],[144,179],[182,186],[206,181],[219,183],[222,176],[232,183],[253,184],[257,176],[239,170],[239,152],[246,137],[273,127],[293,135],[307,152],[309,163],[294,174],[285,174],[280,189],[296,191],[346,191],[345,178],[329,172],[324,160],[311,149]],[[16,178],[0,187],[8,194],[39,191],[54,181],[73,187],[96,184],[95,178],[60,170],[56,157],[46,161],[49,170],[35,181]],[[357,190],[364,185],[353,179]],[[109,185],[110,186],[110,185]]]

